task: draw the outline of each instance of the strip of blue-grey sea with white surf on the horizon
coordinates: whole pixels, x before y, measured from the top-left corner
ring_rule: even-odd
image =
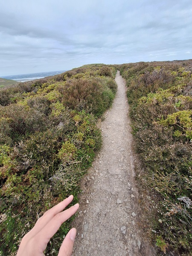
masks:
[[[11,79],[11,80],[15,80],[18,82],[25,82],[25,81],[31,81],[31,80],[35,80],[35,79],[44,78],[46,76],[55,76],[55,75],[64,73],[65,71],[66,70],[14,75],[14,76],[2,76],[2,78]]]

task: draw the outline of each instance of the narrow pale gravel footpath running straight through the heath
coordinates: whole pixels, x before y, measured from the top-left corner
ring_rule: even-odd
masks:
[[[103,147],[81,182],[80,212],[73,226],[73,256],[153,256],[143,239],[134,181],[134,155],[125,81],[101,123]]]

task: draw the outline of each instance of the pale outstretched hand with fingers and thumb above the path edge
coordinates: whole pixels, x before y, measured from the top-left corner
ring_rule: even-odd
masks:
[[[75,204],[63,211],[72,200],[73,195],[70,195],[38,219],[32,230],[21,240],[17,256],[44,256],[44,250],[51,237],[57,232],[61,224],[70,218],[79,208],[79,204]],[[75,237],[76,229],[72,228],[65,236],[58,256],[71,256]]]

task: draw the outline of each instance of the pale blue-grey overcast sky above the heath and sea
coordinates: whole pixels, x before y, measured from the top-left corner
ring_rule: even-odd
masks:
[[[1,0],[0,76],[192,58],[192,0]]]

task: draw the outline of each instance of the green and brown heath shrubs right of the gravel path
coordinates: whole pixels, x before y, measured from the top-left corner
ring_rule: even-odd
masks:
[[[191,256],[192,61],[116,68],[128,87],[146,233],[167,255]]]

